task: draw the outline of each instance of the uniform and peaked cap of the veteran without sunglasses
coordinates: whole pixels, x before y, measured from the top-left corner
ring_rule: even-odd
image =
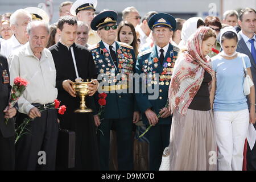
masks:
[[[152,29],[156,27],[169,27],[175,30],[176,21],[173,16],[164,13],[153,15],[148,21],[148,26]],[[168,47],[168,49],[167,49]],[[166,55],[161,60],[157,46],[152,49],[142,52],[138,56],[136,63],[136,73],[143,74],[143,79],[140,81],[141,88],[146,86],[146,93],[141,92],[135,94],[137,104],[142,113],[143,123],[149,126],[148,119],[145,115],[147,109],[151,109],[156,115],[167,105],[168,89],[171,82],[174,64],[177,59],[179,48],[167,44],[164,46]],[[162,49],[162,48],[161,48]],[[161,50],[160,50],[161,51]],[[165,52],[165,51],[164,51]],[[159,88],[157,87],[159,86]],[[154,90],[149,92],[148,89]],[[157,89],[157,90],[156,90]],[[149,99],[150,96],[159,93],[155,99]],[[171,129],[171,117],[159,118],[158,123],[148,130],[148,140],[150,142],[150,170],[158,170],[161,164],[164,148],[169,145]]]

